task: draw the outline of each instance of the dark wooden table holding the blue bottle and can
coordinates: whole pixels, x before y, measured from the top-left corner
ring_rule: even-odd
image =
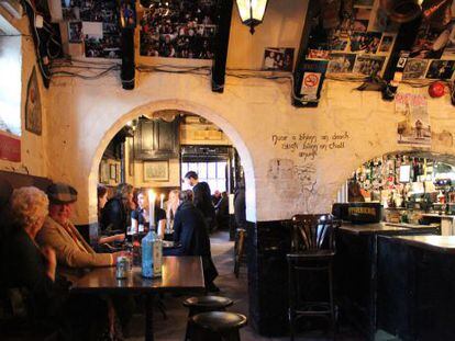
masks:
[[[126,293],[144,294],[145,304],[145,340],[153,337],[153,302],[157,293],[179,293],[204,289],[202,261],[200,257],[164,257],[163,275],[158,279],[144,279],[141,268],[133,271],[124,280],[115,279],[115,268],[98,268],[79,280],[73,293]]]

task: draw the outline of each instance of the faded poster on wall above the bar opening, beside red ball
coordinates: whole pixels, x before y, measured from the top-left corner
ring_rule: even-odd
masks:
[[[397,126],[397,139],[401,145],[431,146],[431,126],[424,95],[397,93],[395,111],[402,117]]]

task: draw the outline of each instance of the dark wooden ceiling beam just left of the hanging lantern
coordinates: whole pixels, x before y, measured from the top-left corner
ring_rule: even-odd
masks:
[[[212,91],[223,92],[226,73],[229,35],[234,0],[219,0],[217,4],[218,32],[214,41]]]

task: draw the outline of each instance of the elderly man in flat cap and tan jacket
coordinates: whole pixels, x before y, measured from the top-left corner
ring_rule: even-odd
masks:
[[[114,265],[124,252],[96,253],[69,220],[77,191],[65,183],[53,183],[47,187],[49,215],[36,240],[52,247],[59,264],[68,268],[93,268]]]

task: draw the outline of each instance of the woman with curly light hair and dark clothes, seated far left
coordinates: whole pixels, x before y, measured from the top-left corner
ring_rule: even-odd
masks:
[[[93,296],[68,295],[69,282],[56,274],[56,254],[35,241],[47,216],[46,194],[33,186],[14,190],[13,224],[3,238],[2,288],[27,293],[27,312],[36,332],[58,332],[56,340],[99,340],[107,329],[107,305]]]

